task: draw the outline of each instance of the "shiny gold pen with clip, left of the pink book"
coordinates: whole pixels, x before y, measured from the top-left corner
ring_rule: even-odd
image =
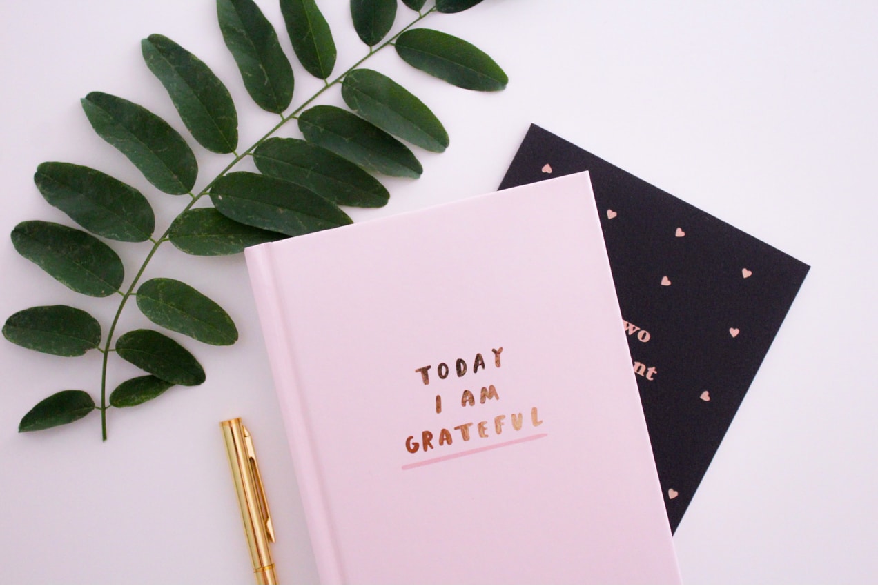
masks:
[[[265,500],[263,479],[259,475],[253,438],[241,418],[228,419],[219,424],[226,440],[228,463],[232,466],[234,489],[241,504],[241,518],[253,572],[257,584],[277,584],[274,563],[271,561],[269,541],[274,541],[269,505]]]

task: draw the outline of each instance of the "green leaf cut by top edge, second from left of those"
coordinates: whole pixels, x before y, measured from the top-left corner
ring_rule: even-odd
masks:
[[[314,0],[280,0],[286,31],[302,67],[326,79],[335,67],[335,41]]]

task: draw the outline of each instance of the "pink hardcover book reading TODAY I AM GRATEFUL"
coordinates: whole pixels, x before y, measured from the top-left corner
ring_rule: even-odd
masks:
[[[587,173],[248,248],[323,582],[679,582]]]

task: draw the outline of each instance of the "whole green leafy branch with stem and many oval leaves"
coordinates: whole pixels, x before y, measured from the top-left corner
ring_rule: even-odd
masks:
[[[403,0],[415,11],[411,21],[390,34],[396,0],[350,0],[354,31],[368,52],[330,81],[335,40],[314,0],[279,0],[286,32],[302,68],[323,87],[290,110],[295,89],[291,62],[273,25],[253,0],[217,0],[219,30],[255,104],[280,120],[243,151],[238,150],[238,117],[226,85],[204,61],[174,40],[152,34],[141,41],[143,59],[162,82],[191,138],[214,154],[231,154],[227,166],[194,193],[198,159],[184,136],[139,104],[103,92],[81,103],[97,135],[124,154],[159,191],[189,195],[182,211],[158,237],[155,213],[140,190],[103,172],[68,162],[40,164],[34,182],[48,204],[83,229],[42,220],[18,224],[11,233],[19,254],[68,289],[90,297],[119,294],[104,335],[88,312],[69,305],[31,307],[16,312],[3,327],[18,346],[74,357],[97,349],[103,354],[99,402],[82,389],[50,395],[18,425],[30,432],[65,425],[101,412],[107,439],[107,411],[143,404],[176,386],[205,382],[205,371],[191,352],[165,333],[138,329],[117,336],[128,300],[153,324],[200,343],[229,346],[238,339],[233,319],[210,297],[169,278],[140,283],[156,251],[170,242],[186,254],[241,253],[263,242],[351,223],[339,206],[380,207],[390,194],[376,175],[417,178],[421,162],[405,144],[442,153],[448,133],[417,96],[363,63],[387,46],[402,61],[464,89],[504,89],[507,76],[476,46],[447,33],[415,27],[435,12],[464,11],[480,0]],[[405,9],[403,9],[405,10]],[[314,104],[340,86],[349,110]],[[312,105],[314,104],[314,105]],[[278,138],[296,120],[302,139]],[[405,143],[403,142],[405,141]],[[251,157],[258,173],[234,171]],[[206,196],[206,198],[205,198]],[[209,199],[212,205],[196,207]],[[151,242],[140,267],[123,290],[125,267],[104,239]],[[102,343],[103,340],[103,343]],[[144,370],[108,387],[111,356]]]

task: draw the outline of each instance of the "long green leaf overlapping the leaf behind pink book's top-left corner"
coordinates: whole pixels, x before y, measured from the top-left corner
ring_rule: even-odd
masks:
[[[348,214],[313,191],[256,173],[221,177],[211,188],[211,200],[236,222],[288,236],[351,223]]]

